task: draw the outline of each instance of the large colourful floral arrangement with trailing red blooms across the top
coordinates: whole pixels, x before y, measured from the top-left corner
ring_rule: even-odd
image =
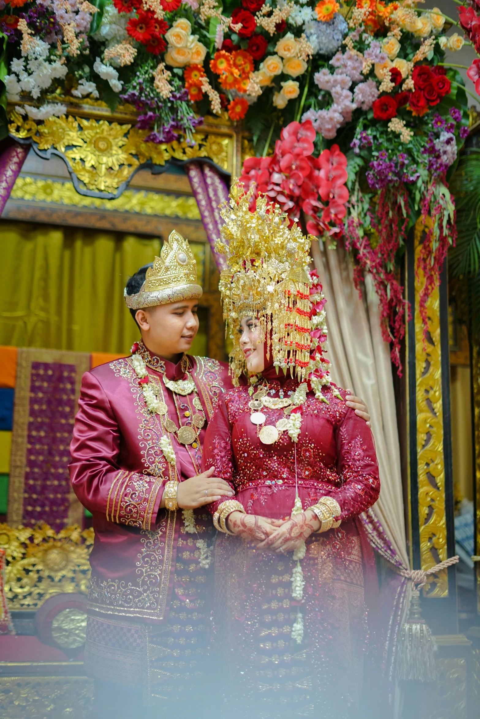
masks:
[[[158,144],[193,144],[204,114],[242,122],[259,155],[243,181],[308,232],[343,237],[358,283],[373,276],[399,366],[407,232],[430,217],[418,260],[425,324],[455,239],[448,178],[468,113],[445,50],[480,51],[470,1],[456,20],[413,0],[0,0],[6,99],[35,121],[67,102],[130,104]],[[468,75],[480,92],[479,59]]]

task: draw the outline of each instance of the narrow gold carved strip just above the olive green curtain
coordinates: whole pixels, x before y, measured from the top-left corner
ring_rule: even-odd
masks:
[[[62,205],[95,207],[117,212],[200,219],[199,208],[194,197],[125,190],[115,200],[102,200],[98,197],[79,195],[73,187],[73,183],[58,180],[37,180],[19,176],[12,188],[11,197],[17,200],[55,202]]]

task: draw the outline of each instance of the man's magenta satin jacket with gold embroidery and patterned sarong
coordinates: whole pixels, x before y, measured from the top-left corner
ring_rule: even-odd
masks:
[[[173,365],[140,345],[150,379],[184,379]],[[227,367],[188,357],[207,419],[225,386]],[[226,385],[225,385],[226,383]],[[176,702],[202,681],[212,570],[199,540],[213,544],[212,518],[195,511],[196,533],[186,533],[181,511],[160,509],[169,479],[160,426],[148,411],[130,358],[83,375],[71,443],[71,482],[93,515],[86,672],[124,687],[142,688],[145,705]],[[163,385],[168,417],[192,426],[194,394]],[[200,472],[206,424],[188,446],[175,435],[178,479]]]

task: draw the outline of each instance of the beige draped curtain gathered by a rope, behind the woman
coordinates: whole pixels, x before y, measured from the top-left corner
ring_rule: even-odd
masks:
[[[379,301],[370,277],[361,300],[343,248],[327,249],[322,242],[312,242],[311,252],[327,298],[327,357],[332,362],[332,379],[368,405],[381,481],[380,498],[373,510],[409,567],[390,349],[381,339]]]

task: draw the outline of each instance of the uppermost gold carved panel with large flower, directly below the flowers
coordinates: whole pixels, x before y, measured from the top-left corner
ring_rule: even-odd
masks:
[[[186,140],[155,145],[145,142],[149,130],[132,124],[71,115],[34,122],[17,111],[9,111],[9,133],[19,139],[31,138],[39,150],[61,152],[71,170],[88,190],[115,193],[144,162],[165,165],[172,158],[193,160],[209,157],[222,170],[233,162],[232,136],[194,133],[194,145]]]

